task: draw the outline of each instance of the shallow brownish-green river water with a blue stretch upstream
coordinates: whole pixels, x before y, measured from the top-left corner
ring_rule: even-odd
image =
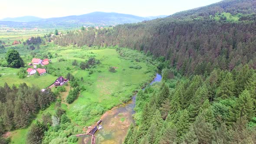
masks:
[[[156,74],[150,85],[160,82],[161,79],[161,75]],[[131,122],[134,122],[132,115],[135,113],[135,100],[136,95],[128,103],[112,108],[102,115],[101,128],[95,133],[96,144],[122,144]],[[90,144],[91,136],[83,137],[79,143]]]

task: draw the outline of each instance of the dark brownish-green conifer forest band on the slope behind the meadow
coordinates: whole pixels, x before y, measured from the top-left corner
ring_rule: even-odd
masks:
[[[213,68],[232,70],[246,63],[256,69],[255,21],[177,20],[168,17],[118,25],[113,29],[70,32],[57,37],[55,43],[61,46],[118,45],[149,51],[154,56],[164,56],[169,65],[183,75],[209,73],[206,69]]]

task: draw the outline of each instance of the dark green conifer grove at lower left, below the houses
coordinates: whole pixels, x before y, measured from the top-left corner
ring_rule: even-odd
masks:
[[[0,87],[0,135],[5,131],[24,128],[40,109],[45,109],[56,100],[50,89],[41,92],[39,88],[26,83]]]

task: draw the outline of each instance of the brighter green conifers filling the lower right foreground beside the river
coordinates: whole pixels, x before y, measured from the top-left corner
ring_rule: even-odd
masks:
[[[214,69],[204,78],[164,71],[136,97],[124,144],[255,144],[256,71]],[[172,75],[174,79],[166,76]]]

